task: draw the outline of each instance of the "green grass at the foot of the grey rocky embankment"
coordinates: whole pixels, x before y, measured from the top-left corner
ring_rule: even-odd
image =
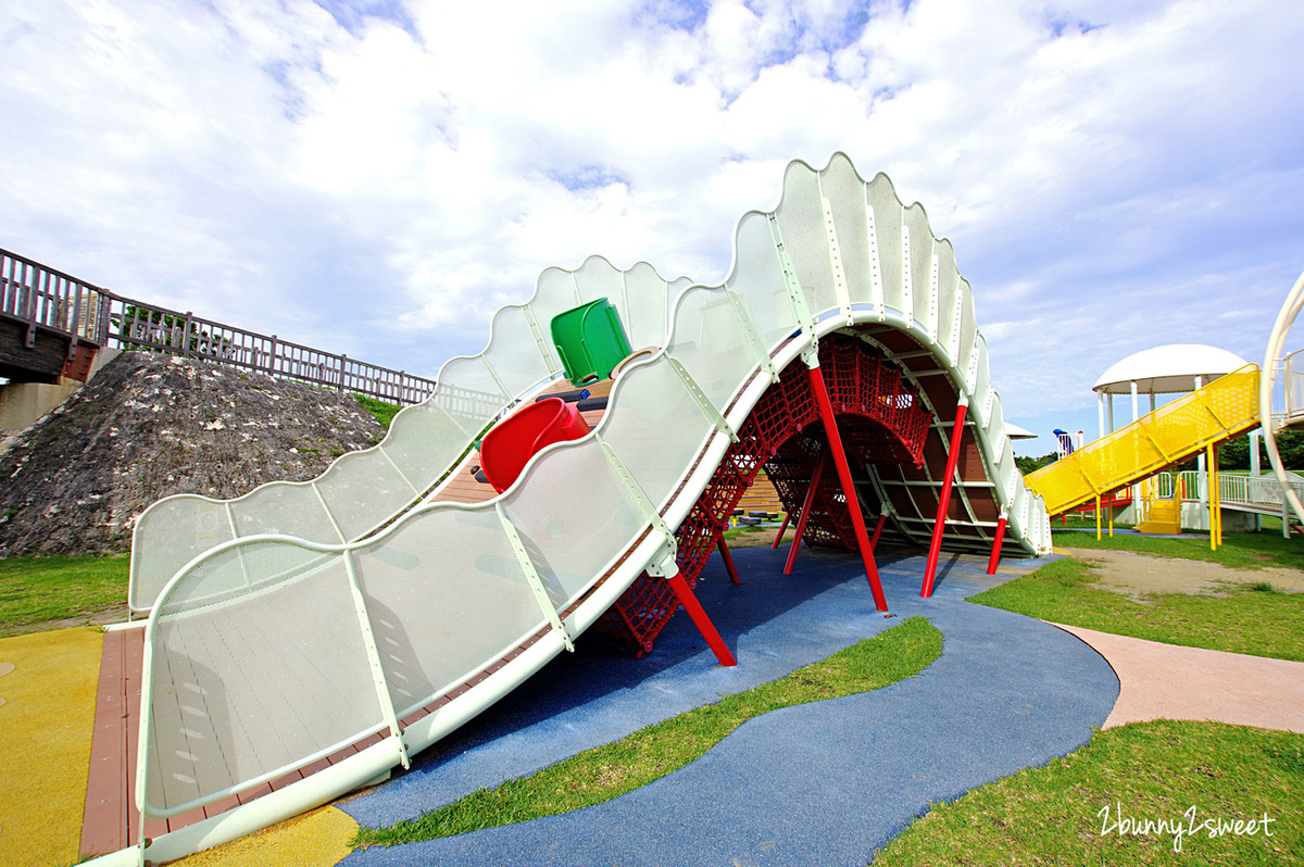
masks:
[[[0,559],[0,636],[35,625],[94,614],[126,601],[125,557]]]

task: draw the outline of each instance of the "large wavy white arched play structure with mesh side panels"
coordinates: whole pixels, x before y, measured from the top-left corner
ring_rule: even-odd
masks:
[[[597,428],[541,451],[501,495],[438,502],[476,437],[561,377],[549,319],[604,296],[631,343],[657,351],[619,372]],[[147,857],[215,845],[406,765],[619,610],[636,581],[673,574],[721,473],[793,465],[815,447],[785,385],[799,362],[854,372],[831,391],[855,419],[857,498],[885,515],[888,537],[927,542],[968,405],[947,544],[986,550],[1008,520],[1007,553],[1048,551],[951,244],[884,175],[866,183],[842,154],[823,171],[794,162],[778,206],[739,219],[722,284],[601,258],[549,269],[379,446],[313,482],[173,497],[141,518],[130,593],[151,611],[136,790]],[[786,433],[758,445],[760,429]],[[801,480],[786,478],[792,499]]]

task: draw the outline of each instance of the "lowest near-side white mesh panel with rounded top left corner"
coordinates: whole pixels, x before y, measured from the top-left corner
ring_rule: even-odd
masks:
[[[292,545],[241,546],[163,601],[153,657],[151,810],[288,771],[382,724],[343,561],[309,557],[314,568]],[[239,584],[245,570],[280,579],[213,595]]]

